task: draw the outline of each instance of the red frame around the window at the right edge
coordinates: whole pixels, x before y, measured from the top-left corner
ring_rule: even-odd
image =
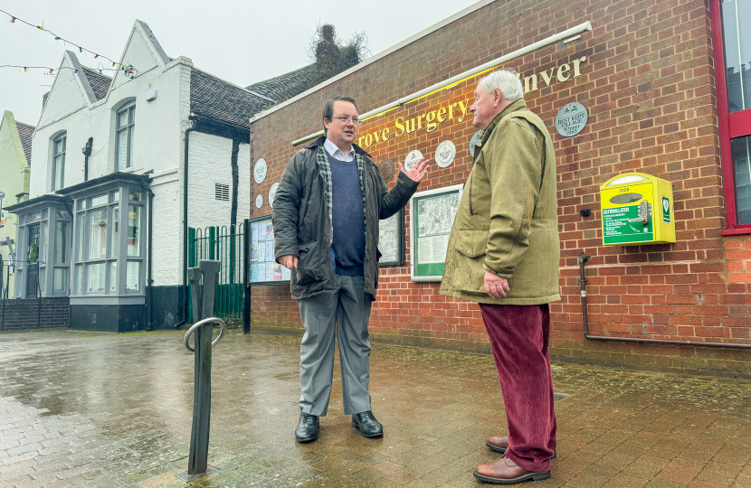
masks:
[[[718,92],[719,155],[722,165],[722,182],[725,191],[725,229],[723,235],[751,233],[751,224],[738,225],[736,209],[736,182],[733,174],[733,155],[730,139],[751,135],[751,109],[728,112],[725,47],[722,35],[720,0],[709,0],[712,23],[712,43],[715,48],[715,72]]]

